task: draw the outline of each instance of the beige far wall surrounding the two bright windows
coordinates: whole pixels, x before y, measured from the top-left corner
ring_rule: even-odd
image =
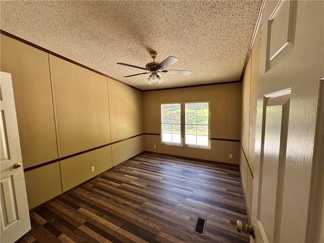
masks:
[[[166,145],[160,142],[161,103],[210,102],[211,148]],[[145,150],[178,156],[239,163],[241,83],[144,92]],[[154,135],[150,135],[154,134]],[[156,145],[156,148],[154,148]],[[233,158],[229,158],[233,154]]]

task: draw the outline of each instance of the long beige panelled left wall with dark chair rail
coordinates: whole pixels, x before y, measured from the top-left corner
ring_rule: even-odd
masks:
[[[5,35],[1,71],[12,74],[29,209],[144,150],[142,92]]]

